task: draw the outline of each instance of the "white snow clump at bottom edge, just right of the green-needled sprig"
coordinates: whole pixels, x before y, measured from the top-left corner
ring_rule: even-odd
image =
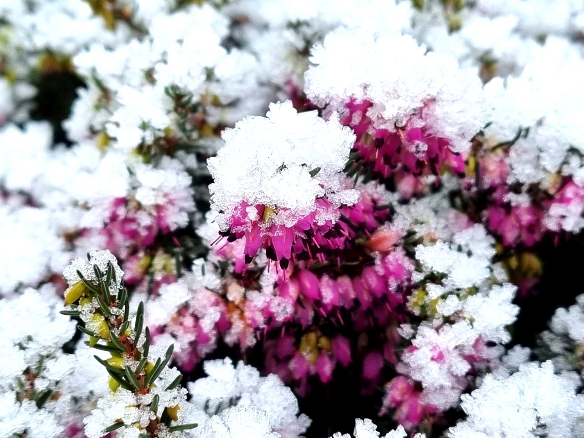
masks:
[[[194,430],[197,437],[293,438],[310,425],[275,374],[260,377],[252,366],[239,362],[234,368],[229,359],[207,361],[204,370],[208,377],[189,383],[190,402],[212,415]]]

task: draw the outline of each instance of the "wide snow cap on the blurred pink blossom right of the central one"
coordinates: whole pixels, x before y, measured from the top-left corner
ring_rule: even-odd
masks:
[[[484,124],[476,72],[458,67],[452,55],[426,53],[411,36],[338,29],[314,47],[310,60],[308,98],[338,111],[350,99],[369,100],[375,128],[395,131],[422,110],[432,134],[463,152]]]

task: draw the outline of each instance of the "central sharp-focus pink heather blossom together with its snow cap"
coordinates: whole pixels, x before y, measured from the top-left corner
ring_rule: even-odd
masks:
[[[263,248],[285,269],[293,256],[318,248],[316,236],[334,230],[340,205],[356,201],[340,175],[353,135],[338,121],[298,114],[290,102],[272,104],[267,118],[242,120],[224,140],[209,159],[211,201],[221,234],[245,238],[248,262]]]

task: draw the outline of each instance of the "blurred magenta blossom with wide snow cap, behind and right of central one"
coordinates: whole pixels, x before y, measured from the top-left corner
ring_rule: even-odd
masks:
[[[339,51],[362,53],[357,59],[339,57]],[[370,67],[392,51],[395,67]],[[343,29],[314,48],[307,95],[326,106],[325,114],[338,112],[356,134],[353,172],[363,166],[366,175],[381,179],[399,170],[438,175],[446,165],[464,173],[460,154],[484,117],[480,84],[453,58],[425,51],[408,36]]]

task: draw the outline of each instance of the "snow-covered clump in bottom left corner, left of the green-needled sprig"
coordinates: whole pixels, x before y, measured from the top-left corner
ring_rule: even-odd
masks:
[[[87,349],[63,352],[75,324],[58,314],[54,294],[47,284],[0,301],[2,436],[64,436],[105,394]]]

